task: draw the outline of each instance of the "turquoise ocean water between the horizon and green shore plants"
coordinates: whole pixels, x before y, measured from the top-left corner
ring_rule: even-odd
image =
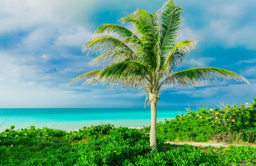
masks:
[[[184,108],[159,108],[157,121],[175,118],[186,113]],[[7,119],[6,119],[7,118]],[[21,129],[50,127],[67,131],[98,124],[114,124],[116,127],[142,127],[150,125],[150,109],[144,108],[19,108],[0,109],[0,131],[15,125]]]

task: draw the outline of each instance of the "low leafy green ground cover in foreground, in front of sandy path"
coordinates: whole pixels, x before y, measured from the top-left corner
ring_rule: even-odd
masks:
[[[140,129],[112,125],[79,132],[58,129],[14,130],[1,133],[1,166],[220,166],[255,165],[252,146],[201,148],[165,144],[150,155],[149,137]]]

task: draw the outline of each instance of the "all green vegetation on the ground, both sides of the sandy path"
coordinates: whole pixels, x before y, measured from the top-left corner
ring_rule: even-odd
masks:
[[[218,118],[216,118],[218,117]],[[157,150],[151,155],[150,138],[143,129],[105,124],[79,131],[38,128],[0,133],[1,166],[230,166],[256,165],[253,146],[227,148],[166,144],[165,141],[240,141],[255,143],[256,99],[250,104],[201,108],[157,125]],[[232,142],[232,141],[231,141]]]

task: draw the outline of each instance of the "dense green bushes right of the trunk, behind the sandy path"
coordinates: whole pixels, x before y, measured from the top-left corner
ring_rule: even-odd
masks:
[[[256,142],[256,99],[240,107],[200,108],[157,125],[157,136],[169,141]]]

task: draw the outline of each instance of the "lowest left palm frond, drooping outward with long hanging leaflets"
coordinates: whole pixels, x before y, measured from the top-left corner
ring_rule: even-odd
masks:
[[[102,70],[84,73],[73,79],[68,85],[79,80],[86,80],[83,84],[102,84],[108,87],[140,88],[147,79],[148,69],[136,61],[122,61],[107,66]]]

